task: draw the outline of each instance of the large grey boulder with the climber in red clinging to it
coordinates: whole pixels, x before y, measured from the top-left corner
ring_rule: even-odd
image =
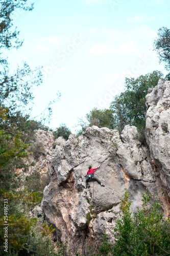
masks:
[[[148,187],[158,194],[156,174],[147,146],[136,138],[136,127],[125,126],[122,140],[116,130],[88,127],[77,139],[55,148],[48,172],[51,182],[44,188],[42,207],[47,220],[62,242],[86,234],[96,239],[105,232],[113,241],[113,226],[119,217],[119,203],[125,189],[131,194],[132,210],[141,206],[141,193]],[[89,182],[88,166],[105,187]]]

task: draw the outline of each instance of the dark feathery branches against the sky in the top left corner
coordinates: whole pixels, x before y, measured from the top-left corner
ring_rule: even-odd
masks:
[[[32,99],[31,88],[33,84],[39,84],[42,81],[40,69],[32,71],[26,62],[21,69],[17,68],[15,74],[9,74],[9,65],[7,59],[3,58],[3,49],[19,48],[22,41],[18,40],[19,32],[13,31],[12,13],[18,8],[23,10],[33,10],[33,5],[28,7],[27,0],[4,0],[0,3],[0,104],[3,107],[10,107],[10,112],[16,111],[16,108],[27,105]]]

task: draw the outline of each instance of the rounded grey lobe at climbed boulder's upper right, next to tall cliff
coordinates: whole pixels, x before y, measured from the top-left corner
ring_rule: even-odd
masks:
[[[117,150],[119,162],[131,179],[155,182],[149,149],[141,144],[137,135],[135,126],[125,126],[121,135],[124,143]]]

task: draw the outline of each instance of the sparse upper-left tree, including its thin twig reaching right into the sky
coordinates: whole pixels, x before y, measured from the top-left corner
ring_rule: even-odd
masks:
[[[42,121],[50,120],[51,105],[60,98],[60,93],[57,93],[54,101],[48,103],[41,113],[43,115],[40,114],[40,123],[35,121],[35,118],[31,118],[34,99],[32,88],[39,86],[42,82],[41,69],[31,70],[29,65],[23,62],[23,67],[18,67],[14,74],[10,74],[9,63],[7,59],[3,58],[2,52],[3,49],[10,50],[22,45],[23,41],[18,40],[19,31],[13,29],[12,24],[12,14],[18,9],[32,11],[33,4],[30,4],[28,0],[3,0],[0,3],[0,104],[8,111],[8,118],[1,123],[1,128],[6,130],[10,125],[13,133],[19,130],[22,135],[22,132],[26,134],[27,130],[27,134],[30,132],[31,135],[33,134],[33,127],[35,129],[35,126],[40,126],[40,123],[42,126]],[[36,129],[38,128],[36,127]]]

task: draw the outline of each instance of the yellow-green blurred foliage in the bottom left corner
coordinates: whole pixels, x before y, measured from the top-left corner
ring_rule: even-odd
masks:
[[[35,205],[39,201],[39,197],[36,193],[28,194],[26,191],[22,193],[12,193],[11,191],[6,191],[5,189],[0,189],[0,226],[4,226],[4,199],[8,200],[7,207],[7,219],[8,219],[8,245],[9,248],[21,248],[23,244],[26,243],[27,237],[26,234],[29,232],[31,227],[36,224],[35,218],[28,218],[23,212],[17,209],[17,202],[27,202],[30,205]],[[5,242],[4,238],[4,229],[1,229],[0,232],[0,241],[1,244]],[[0,251],[1,251],[0,247]]]

